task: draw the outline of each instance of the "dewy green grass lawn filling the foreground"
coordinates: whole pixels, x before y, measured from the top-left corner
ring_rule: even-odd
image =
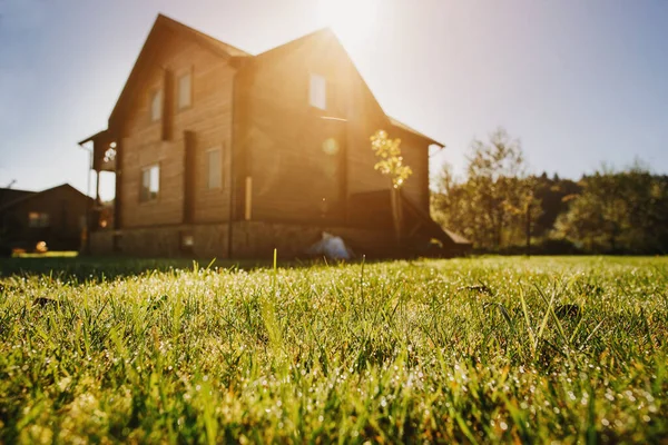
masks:
[[[668,441],[666,258],[242,266],[1,261],[0,442]]]

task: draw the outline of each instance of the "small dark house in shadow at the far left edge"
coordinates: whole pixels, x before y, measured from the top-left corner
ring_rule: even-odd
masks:
[[[92,199],[63,184],[42,191],[0,189],[0,244],[4,249],[79,250]]]

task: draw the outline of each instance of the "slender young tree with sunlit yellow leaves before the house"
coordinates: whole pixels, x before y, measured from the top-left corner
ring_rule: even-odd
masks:
[[[379,158],[379,161],[373,168],[390,179],[390,199],[394,234],[396,243],[401,244],[401,187],[411,177],[413,170],[411,170],[411,167],[403,164],[403,157],[401,156],[401,139],[390,139],[386,131],[379,130],[371,137],[371,149]]]

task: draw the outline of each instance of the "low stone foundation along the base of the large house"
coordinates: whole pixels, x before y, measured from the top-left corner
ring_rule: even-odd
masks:
[[[342,237],[358,256],[392,256],[395,250],[390,231],[264,221],[238,221],[234,222],[232,229],[233,258],[271,258],[275,248],[284,259],[303,257],[307,248],[321,239],[323,231]],[[135,257],[227,258],[227,224],[203,224],[97,231],[90,237],[90,253]],[[184,237],[188,236],[191,236],[191,246],[183,243]]]

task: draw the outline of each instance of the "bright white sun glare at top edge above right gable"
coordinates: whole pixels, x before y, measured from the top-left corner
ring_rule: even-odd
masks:
[[[363,40],[373,31],[381,0],[318,0],[318,19],[345,39]]]

